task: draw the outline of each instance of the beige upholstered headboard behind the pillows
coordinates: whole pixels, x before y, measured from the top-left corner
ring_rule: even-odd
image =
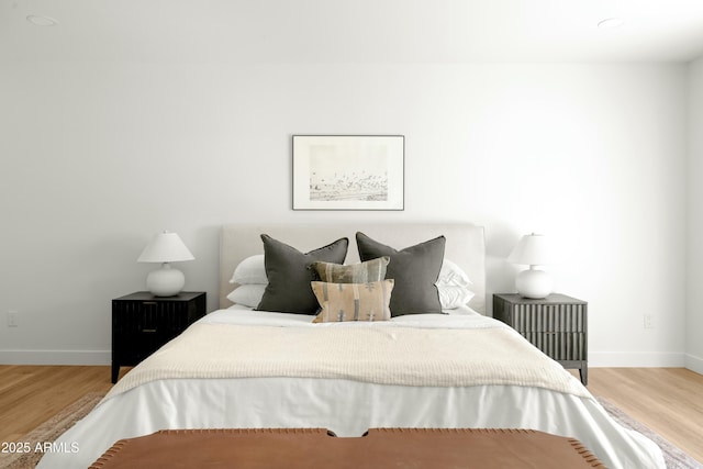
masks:
[[[447,238],[445,257],[457,264],[471,279],[476,297],[469,306],[486,314],[486,245],[483,227],[470,224],[242,224],[224,225],[220,236],[220,308],[228,308],[232,302],[226,295],[236,287],[230,283],[235,267],[255,254],[264,254],[260,234],[306,253],[332,243],[341,237],[349,238],[346,264],[359,261],[356,247],[356,232],[402,249],[432,239],[439,235]]]

